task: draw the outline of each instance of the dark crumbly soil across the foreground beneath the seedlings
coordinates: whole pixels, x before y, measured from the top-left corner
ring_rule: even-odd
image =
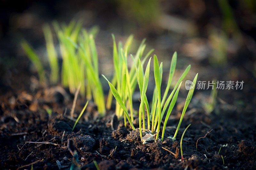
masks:
[[[93,161],[100,169],[254,169],[256,166],[253,114],[233,111],[205,115],[188,111],[172,143],[169,136],[174,134],[180,118],[177,111],[168,122],[163,142],[153,140],[143,144],[139,129],[132,130],[129,124],[125,128],[123,120],[119,121],[110,111],[106,117],[98,117],[92,103],[72,131],[76,118],[69,118],[67,108],[71,108],[72,102],[67,101],[73,96],[60,87],[45,89],[36,93],[6,92],[1,96],[1,169],[31,169],[31,165],[33,169],[71,166],[96,169]],[[76,116],[85,104],[83,101],[77,101]],[[52,115],[46,112],[48,108],[53,109]],[[138,128],[136,122],[134,126]],[[182,162],[180,137],[189,123],[182,142]]]

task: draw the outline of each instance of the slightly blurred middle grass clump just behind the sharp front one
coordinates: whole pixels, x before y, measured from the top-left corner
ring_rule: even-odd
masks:
[[[114,62],[114,68],[115,73],[113,76],[113,79],[111,81],[112,85],[116,87],[117,92],[120,94],[120,96],[123,98],[124,91],[125,91],[125,102],[126,106],[129,106],[130,114],[131,114],[131,120],[133,121],[133,104],[132,104],[132,94],[136,87],[136,72],[135,72],[135,65],[132,64],[130,70],[128,69],[128,61],[127,61],[127,55],[130,51],[131,44],[133,41],[133,35],[130,35],[127,39],[127,41],[124,44],[121,42],[118,43],[118,46],[116,45],[115,36],[112,34],[113,38],[113,62]],[[138,64],[139,58],[141,59],[146,45],[144,44],[145,39],[141,42],[137,53],[135,55],[136,63]],[[154,51],[154,49],[151,49],[144,57],[143,61],[141,62],[142,65],[145,63],[148,56]],[[122,86],[122,73],[126,74],[126,89],[123,89]],[[107,99],[107,105],[106,107],[109,109],[112,102],[112,92],[109,90],[108,93],[108,99]],[[116,101],[116,115],[118,118],[120,118],[123,115],[122,108],[118,105],[118,102]]]

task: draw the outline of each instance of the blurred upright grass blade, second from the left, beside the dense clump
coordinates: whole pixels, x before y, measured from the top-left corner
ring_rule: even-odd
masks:
[[[44,38],[46,42],[46,49],[48,53],[48,59],[51,67],[50,80],[52,83],[57,83],[59,79],[59,64],[58,56],[54,48],[54,43],[52,39],[52,32],[49,25],[44,25],[43,27]]]

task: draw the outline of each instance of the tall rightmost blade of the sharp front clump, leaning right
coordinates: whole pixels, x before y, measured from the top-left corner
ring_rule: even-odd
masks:
[[[183,117],[184,117],[184,115],[185,115],[185,112],[186,112],[186,110],[187,110],[187,108],[188,108],[188,104],[189,104],[189,102],[190,102],[190,100],[191,100],[191,98],[192,98],[193,92],[194,92],[195,87],[196,87],[197,75],[198,75],[198,73],[196,74],[196,76],[195,76],[195,78],[194,78],[194,80],[193,80],[193,83],[192,83],[192,85],[190,86],[190,89],[189,89],[189,92],[188,92],[188,96],[187,96],[187,99],[186,99],[186,102],[185,102],[185,105],[184,105],[182,114],[181,114],[181,116],[180,116],[180,122],[179,122],[179,124],[178,124],[178,126],[177,126],[177,129],[176,129],[176,132],[175,132],[175,134],[174,134],[174,136],[173,136],[172,141],[175,140],[175,138],[176,138],[176,136],[177,136],[177,134],[178,134],[178,131],[179,131],[179,129],[180,129],[180,124],[181,124],[182,119],[183,119]]]

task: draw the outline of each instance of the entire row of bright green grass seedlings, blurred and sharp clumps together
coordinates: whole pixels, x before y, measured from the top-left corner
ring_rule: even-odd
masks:
[[[69,25],[59,25],[57,22],[54,22],[53,27],[59,40],[60,56],[62,58],[62,85],[69,87],[70,92],[74,93],[76,91],[76,88],[78,86],[80,87],[81,84],[80,94],[82,96],[86,96],[88,100],[91,100],[93,98],[95,104],[98,107],[100,115],[104,116],[106,112],[104,93],[99,78],[98,55],[94,42],[94,37],[98,32],[97,28],[93,27],[89,32],[87,32],[85,29],[82,28],[81,22],[76,23],[74,21],[71,21]],[[52,83],[57,83],[59,78],[59,63],[58,55],[53,43],[53,36],[50,26],[44,26],[43,31],[46,41],[48,59],[51,67],[50,80]],[[172,91],[169,93],[177,62],[177,53],[175,52],[173,54],[169,72],[169,79],[166,87],[164,88],[165,90],[163,98],[161,98],[161,89],[163,89],[163,63],[160,63],[159,65],[158,58],[156,55],[154,55],[153,66],[155,89],[152,98],[150,98],[152,99],[152,103],[149,106],[149,98],[146,95],[146,91],[148,88],[150,64],[152,58],[149,58],[145,72],[144,63],[147,61],[148,56],[154,51],[154,49],[149,50],[144,55],[146,45],[145,40],[143,40],[136,54],[134,56],[131,55],[131,59],[133,62],[132,65],[128,67],[128,54],[130,53],[133,36],[131,35],[128,37],[124,46],[122,42],[119,42],[118,45],[116,44],[114,35],[112,35],[112,38],[115,73],[111,82],[104,75],[102,75],[108,81],[110,87],[106,107],[107,109],[111,107],[112,98],[114,96],[114,98],[116,99],[117,117],[124,117],[125,126],[126,120],[128,120],[132,129],[135,129],[132,124],[134,119],[132,96],[135,91],[136,85],[138,84],[140,89],[140,107],[138,112],[140,137],[142,138],[142,131],[145,132],[145,130],[148,129],[151,130],[152,134],[156,133],[156,138],[158,139],[160,125],[165,115],[161,138],[161,140],[163,141],[168,118],[176,103],[182,80],[185,78],[185,76],[188,74],[188,71],[190,70],[190,65],[188,65],[186,70],[180,76],[180,79],[176,82],[176,85],[174,86]],[[46,80],[45,71],[39,57],[36,55],[34,50],[29,46],[26,41],[23,41],[21,45],[27,53],[29,59],[35,64],[40,82],[44,83]],[[180,117],[180,122],[173,136],[173,141],[177,136],[183,116],[192,98],[195,89],[196,79],[197,74],[188,92],[188,96]],[[83,111],[79,115],[77,121],[79,120]]]

